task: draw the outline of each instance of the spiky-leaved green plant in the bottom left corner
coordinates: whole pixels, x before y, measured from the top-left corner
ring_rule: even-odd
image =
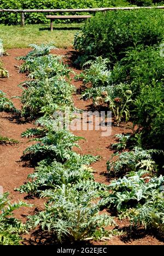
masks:
[[[20,245],[20,234],[25,232],[25,224],[13,217],[13,212],[21,206],[28,206],[25,202],[11,204],[8,193],[0,194],[0,245]]]

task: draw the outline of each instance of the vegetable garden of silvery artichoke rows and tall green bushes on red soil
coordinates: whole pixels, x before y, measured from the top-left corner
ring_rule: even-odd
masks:
[[[54,43],[30,45],[15,60],[20,63],[15,71],[25,81],[16,97],[0,91],[0,111],[17,120],[16,125],[28,124],[20,136],[28,143],[20,162],[31,172],[12,192],[24,200],[13,203],[10,194],[0,194],[1,245],[26,244],[38,229],[54,243],[75,245],[87,240],[110,244],[114,237],[143,229],[163,244],[163,24],[163,10],[98,13],[75,36],[76,69],[70,56],[66,61],[56,54]],[[10,80],[3,64],[0,77]],[[74,111],[81,111],[77,101],[112,111],[108,149],[97,137],[101,149],[85,154],[79,149],[82,133],[75,135],[65,126],[54,129],[54,113],[69,107],[73,120]],[[20,141],[2,135],[0,147],[19,149]],[[101,150],[107,150],[104,159]],[[106,171],[100,178],[103,170],[95,166],[103,161]],[[31,198],[39,202],[36,212]],[[31,209],[26,222],[17,218],[22,207]],[[120,228],[127,221],[128,231]]]

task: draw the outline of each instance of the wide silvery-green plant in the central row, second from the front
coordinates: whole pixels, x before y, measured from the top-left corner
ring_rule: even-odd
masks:
[[[40,194],[42,190],[54,189],[58,185],[71,185],[81,181],[93,180],[93,170],[86,165],[85,159],[72,155],[65,164],[43,160],[39,162],[34,173],[28,175],[28,182],[21,185],[20,193]]]

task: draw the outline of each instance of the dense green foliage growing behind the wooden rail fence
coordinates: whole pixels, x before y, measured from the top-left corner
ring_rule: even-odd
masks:
[[[37,1],[24,1],[24,0],[0,0],[0,8],[2,9],[72,9],[72,8],[100,8],[111,6],[127,6],[126,0],[37,0]],[[49,14],[49,13],[48,13]],[[46,15],[42,13],[26,13],[26,24],[44,24],[48,23]],[[66,13],[65,13],[66,14]],[[75,13],[76,14],[76,13]],[[77,13],[79,14],[79,13]],[[86,13],[84,13],[86,14]],[[1,22],[5,25],[19,25],[20,14],[0,14]],[[79,20],[81,21],[81,20]],[[61,22],[61,21],[59,21]],[[65,22],[70,23],[69,20]]]

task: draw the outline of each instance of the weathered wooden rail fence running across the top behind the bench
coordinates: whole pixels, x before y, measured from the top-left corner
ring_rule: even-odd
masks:
[[[77,12],[93,12],[96,11],[115,11],[115,10],[138,10],[138,9],[164,9],[164,6],[155,7],[111,7],[111,8],[90,8],[90,9],[0,9],[0,12],[20,13],[21,26],[25,26],[25,13],[77,13]]]

